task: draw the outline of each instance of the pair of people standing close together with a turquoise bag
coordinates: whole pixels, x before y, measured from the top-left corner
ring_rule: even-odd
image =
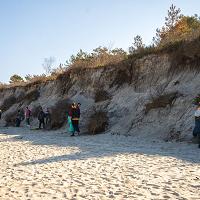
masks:
[[[75,133],[80,134],[79,120],[80,120],[80,103],[72,103],[68,111],[68,124],[71,136],[75,136]]]

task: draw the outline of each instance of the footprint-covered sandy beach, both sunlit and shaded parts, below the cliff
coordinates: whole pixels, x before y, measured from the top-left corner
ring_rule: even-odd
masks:
[[[139,137],[0,129],[0,199],[200,199],[200,149]]]

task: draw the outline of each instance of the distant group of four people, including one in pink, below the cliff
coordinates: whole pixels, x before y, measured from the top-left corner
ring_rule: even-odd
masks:
[[[15,125],[16,127],[20,127],[21,122],[25,119],[26,124],[30,127],[30,119],[32,116],[32,112],[29,107],[26,107],[25,111],[18,110]],[[40,111],[38,113],[38,121],[39,121],[39,129],[45,128],[45,125],[51,122],[51,113],[49,108],[46,109],[46,112],[43,111],[42,107],[40,107]]]

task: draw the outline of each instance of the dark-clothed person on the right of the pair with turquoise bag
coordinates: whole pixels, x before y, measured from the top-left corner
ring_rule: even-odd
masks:
[[[71,136],[74,136],[75,132],[80,134],[80,129],[79,129],[80,106],[78,106],[76,103],[73,103],[71,112],[72,112],[72,125],[74,127],[74,132],[72,133]]]

